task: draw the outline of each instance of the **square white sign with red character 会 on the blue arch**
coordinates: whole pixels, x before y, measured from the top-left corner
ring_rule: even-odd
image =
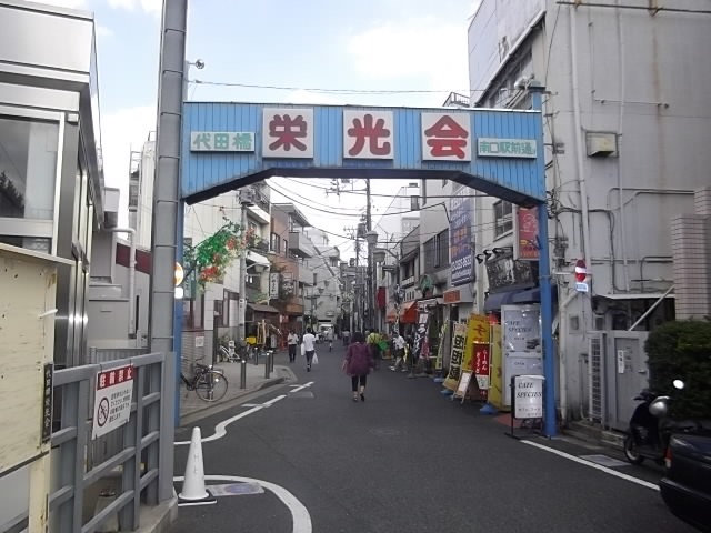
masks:
[[[422,159],[471,161],[469,113],[422,113]]]

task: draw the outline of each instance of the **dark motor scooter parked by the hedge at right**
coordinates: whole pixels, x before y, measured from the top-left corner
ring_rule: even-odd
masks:
[[[682,390],[684,382],[674,380],[673,386]],[[679,431],[678,424],[668,416],[672,399],[645,389],[634,400],[641,403],[630,419],[624,439],[624,457],[632,464],[640,464],[645,459],[663,464],[669,440],[672,433]]]

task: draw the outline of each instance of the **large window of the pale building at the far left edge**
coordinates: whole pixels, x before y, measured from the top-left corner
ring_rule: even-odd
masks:
[[[51,220],[59,125],[0,117],[0,217]]]

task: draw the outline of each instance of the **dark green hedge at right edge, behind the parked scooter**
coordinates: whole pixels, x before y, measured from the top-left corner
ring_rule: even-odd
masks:
[[[669,394],[677,419],[711,420],[711,322],[667,322],[652,331],[644,345],[650,389]],[[672,382],[683,380],[677,391]]]

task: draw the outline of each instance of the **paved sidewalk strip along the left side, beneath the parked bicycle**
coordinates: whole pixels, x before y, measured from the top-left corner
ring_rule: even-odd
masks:
[[[283,351],[274,353],[276,362],[282,362],[286,359],[287,354]],[[239,403],[239,399],[261,389],[297,380],[297,376],[289,366],[274,363],[273,372],[270,372],[269,378],[266,378],[263,361],[260,361],[260,364],[248,362],[244,366],[247,372],[247,386],[244,389],[240,389],[241,366],[241,363],[219,363],[216,365],[216,369],[223,371],[229,385],[227,394],[219,402],[204,402],[200,400],[193,391],[188,391],[184,384],[181,383],[180,419],[183,420],[188,416],[192,419],[194,415],[202,412],[207,413],[208,411],[213,411],[216,408],[224,406],[226,404]]]

